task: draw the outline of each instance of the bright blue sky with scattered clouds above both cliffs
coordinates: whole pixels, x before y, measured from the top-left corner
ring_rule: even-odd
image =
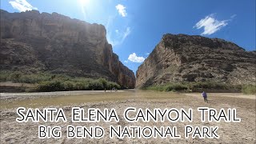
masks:
[[[1,9],[57,12],[102,24],[114,53],[134,72],[166,33],[256,47],[255,0],[1,0]]]

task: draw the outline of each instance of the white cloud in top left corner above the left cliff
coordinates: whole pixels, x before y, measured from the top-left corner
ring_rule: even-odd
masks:
[[[9,2],[14,9],[19,11],[26,11],[26,10],[38,10],[38,8],[31,6],[29,2],[26,0],[14,0]]]

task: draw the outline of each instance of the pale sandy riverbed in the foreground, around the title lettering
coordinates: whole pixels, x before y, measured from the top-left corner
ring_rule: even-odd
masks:
[[[104,94],[104,93],[102,93]],[[123,96],[123,94],[126,94]],[[85,94],[86,95],[86,94]],[[114,95],[116,98],[118,95],[120,98],[114,100],[114,98],[106,99]],[[72,104],[63,103],[58,106],[50,107],[62,107],[65,110],[67,118],[70,118],[70,107],[80,106],[84,109],[87,108],[99,108],[103,110],[104,108],[114,108],[117,110],[118,115],[122,115],[122,112],[127,107],[136,107],[146,109],[149,108],[153,110],[154,108],[192,108],[194,110],[194,121],[193,122],[136,122],[129,123],[126,122],[122,117],[120,117],[120,122],[83,122],[83,123],[71,123],[68,122],[24,122],[18,123],[15,118],[18,115],[15,112],[15,106],[10,108],[1,109],[1,143],[255,143],[255,96],[254,95],[244,95],[244,94],[209,94],[209,103],[203,102],[200,94],[173,94],[173,93],[158,93],[153,91],[126,91],[126,93],[110,93],[103,96],[103,102],[97,101],[86,101],[86,99],[81,100],[80,103],[74,102]],[[24,95],[23,95],[24,96]],[[96,95],[90,95],[97,97]],[[129,96],[129,97],[128,97]],[[24,96],[25,97],[25,96]],[[128,97],[128,98],[127,98]],[[58,98],[58,97],[56,97]],[[104,99],[105,98],[105,99]],[[14,98],[15,99],[15,98]],[[37,98],[36,98],[37,99]],[[2,102],[10,102],[10,99],[2,99]],[[12,101],[15,102],[15,101]],[[40,101],[39,101],[40,102]],[[6,104],[6,103],[4,103]],[[42,105],[38,105],[42,106]],[[42,106],[42,107],[49,107]],[[211,107],[217,110],[224,108],[236,108],[238,118],[242,119],[242,122],[201,122],[199,117],[200,113],[196,112],[198,107]],[[64,135],[59,139],[39,139],[38,138],[38,126],[62,126],[62,134]],[[67,125],[74,126],[102,126],[106,129],[106,136],[101,139],[67,139],[65,127]],[[110,139],[108,137],[108,127],[112,126],[177,126],[178,133],[182,135],[180,139],[161,139],[161,138],[114,138]],[[199,139],[199,138],[184,138],[184,126],[219,126],[218,134],[220,138],[214,139]]]

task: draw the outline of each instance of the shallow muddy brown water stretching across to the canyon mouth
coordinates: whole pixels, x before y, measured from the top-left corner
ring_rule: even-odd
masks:
[[[40,95],[41,93],[35,93]],[[42,93],[44,94],[44,93]],[[156,92],[150,90],[122,90],[118,92],[106,93],[103,91],[81,91],[77,92],[60,92],[47,93],[46,96],[18,99],[14,101],[2,100],[0,109],[10,109],[17,107],[46,107],[46,106],[70,106],[85,102],[103,102],[103,101],[123,101],[129,99],[168,99],[168,98],[182,98],[183,94],[170,92]],[[49,94],[51,94],[49,96]],[[16,94],[19,95],[19,94]],[[31,95],[20,94],[22,97]]]

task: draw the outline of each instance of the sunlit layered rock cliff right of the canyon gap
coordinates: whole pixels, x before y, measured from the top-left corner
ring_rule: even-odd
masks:
[[[232,42],[185,34],[165,34],[138,67],[136,86],[168,82],[254,83],[256,54]]]

